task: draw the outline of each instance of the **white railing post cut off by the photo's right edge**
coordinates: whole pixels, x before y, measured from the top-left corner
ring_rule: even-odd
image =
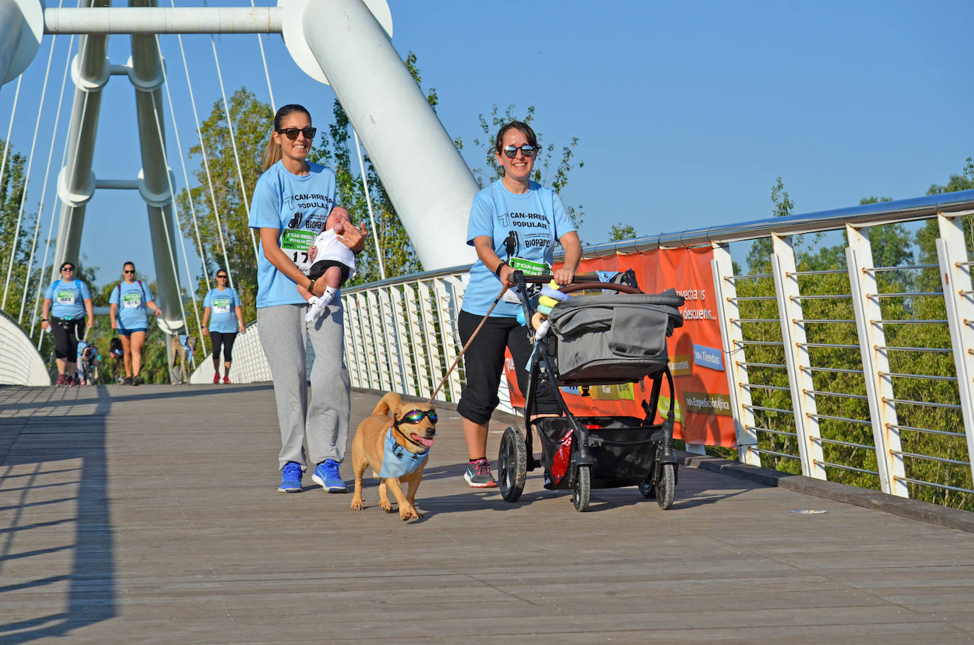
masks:
[[[964,245],[964,215],[971,211],[937,213],[940,237],[937,258],[944,285],[947,324],[951,329],[960,412],[967,437],[967,461],[974,475],[974,290],[971,288],[971,262]]]

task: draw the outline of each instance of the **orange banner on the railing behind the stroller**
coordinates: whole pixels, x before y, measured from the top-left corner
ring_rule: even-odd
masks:
[[[658,293],[675,288],[686,298],[681,308],[683,326],[667,339],[670,371],[677,394],[674,436],[689,443],[735,447],[731,397],[725,372],[721,328],[717,318],[717,298],[709,248],[667,248],[582,260],[580,273],[591,271],[625,271],[636,273],[639,287],[645,293]],[[506,375],[510,403],[524,407],[524,397],[517,389],[513,361],[507,354]],[[664,379],[665,380],[665,379]],[[650,398],[652,383],[624,383],[592,386],[587,397],[578,388],[561,388],[562,396],[575,414],[590,416],[645,416],[640,403]],[[669,409],[669,389],[663,384],[658,410]]]

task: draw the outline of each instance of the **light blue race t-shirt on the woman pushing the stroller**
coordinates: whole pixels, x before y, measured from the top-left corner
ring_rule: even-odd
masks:
[[[506,260],[505,240],[512,237],[514,257],[550,264],[558,240],[574,230],[572,218],[553,190],[532,181],[527,193],[515,195],[498,179],[473,198],[467,244],[472,247],[474,238],[487,236],[494,241],[494,252]],[[470,269],[463,310],[483,316],[500,291],[500,279],[478,259]],[[491,312],[491,317],[514,318],[520,308],[518,304],[502,300]]]

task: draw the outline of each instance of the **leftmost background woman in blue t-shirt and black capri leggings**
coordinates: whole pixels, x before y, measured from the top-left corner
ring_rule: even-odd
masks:
[[[54,306],[52,307],[52,303]],[[88,328],[94,327],[92,293],[74,276],[74,264],[64,262],[60,278],[48,286],[41,310],[41,326],[55,337],[57,385],[76,385],[75,365],[81,326],[88,314]]]

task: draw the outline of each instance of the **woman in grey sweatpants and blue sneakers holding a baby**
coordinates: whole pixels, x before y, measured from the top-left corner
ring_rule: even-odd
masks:
[[[329,493],[344,493],[339,464],[349,436],[351,382],[344,360],[344,310],[333,302],[314,323],[305,322],[308,303],[296,285],[320,296],[327,284],[306,276],[308,255],[325,228],[338,197],[335,173],[309,162],[316,130],[301,105],[284,105],[274,116],[263,174],[250,202],[249,226],[260,234],[257,258],[257,325],[278,405],[281,426],[281,493],[300,493],[301,475],[313,465],[312,479]],[[340,238],[358,252],[365,228],[349,226]],[[307,346],[315,360],[308,396]],[[308,457],[302,446],[307,439]]]

